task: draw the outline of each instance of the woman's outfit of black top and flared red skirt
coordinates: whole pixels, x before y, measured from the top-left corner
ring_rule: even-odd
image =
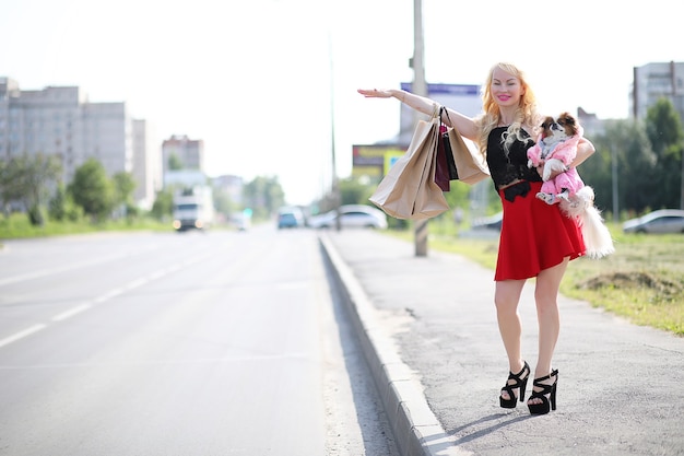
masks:
[[[494,280],[520,280],[536,277],[544,269],[559,265],[586,252],[580,227],[565,217],[558,204],[536,198],[542,179],[527,165],[527,149],[534,142],[516,140],[508,151],[502,145],[506,127],[492,130],[487,143],[487,164],[504,207],[498,258]]]

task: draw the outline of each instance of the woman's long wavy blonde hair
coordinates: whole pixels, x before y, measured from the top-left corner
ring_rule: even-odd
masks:
[[[490,137],[490,132],[492,132],[502,120],[498,105],[492,96],[492,80],[494,78],[494,71],[497,68],[517,78],[523,91],[512,124],[508,126],[508,130],[504,133],[504,151],[507,153],[508,147],[512,144],[516,139],[524,141],[526,138],[522,137],[521,131],[522,126],[531,126],[536,129],[541,117],[536,112],[536,97],[532,89],[528,85],[527,77],[522,70],[512,63],[498,62],[494,65],[490,70],[490,74],[487,75],[486,83],[482,91],[482,106],[484,113],[476,119],[476,124],[480,127],[477,147],[483,155],[485,155],[487,151],[487,138]],[[535,133],[535,131],[533,133]]]

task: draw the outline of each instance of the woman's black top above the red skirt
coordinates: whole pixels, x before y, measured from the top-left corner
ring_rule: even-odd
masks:
[[[516,139],[508,148],[507,154],[502,142],[507,128],[497,127],[490,132],[487,138],[487,165],[494,185],[498,189],[517,179],[541,182],[542,178],[536,169],[528,167],[528,149],[534,145],[534,140],[527,131],[521,130],[527,141]]]

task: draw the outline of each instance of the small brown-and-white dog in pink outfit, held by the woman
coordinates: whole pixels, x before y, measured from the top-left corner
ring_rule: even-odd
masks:
[[[589,257],[601,258],[614,253],[611,233],[593,206],[593,188],[586,186],[577,169],[569,166],[577,156],[582,127],[571,114],[563,113],[557,119],[546,117],[541,128],[536,144],[528,149],[528,166],[544,163],[544,183],[536,198],[547,204],[558,203],[565,215],[578,220]],[[554,171],[561,174],[552,179]]]

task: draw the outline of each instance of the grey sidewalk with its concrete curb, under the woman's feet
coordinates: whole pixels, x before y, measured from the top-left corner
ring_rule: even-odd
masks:
[[[412,243],[366,230],[320,243],[402,455],[684,455],[684,338],[561,296],[557,410],[502,409],[508,363],[492,270],[429,249],[416,257]],[[532,371],[533,287],[520,300]]]

